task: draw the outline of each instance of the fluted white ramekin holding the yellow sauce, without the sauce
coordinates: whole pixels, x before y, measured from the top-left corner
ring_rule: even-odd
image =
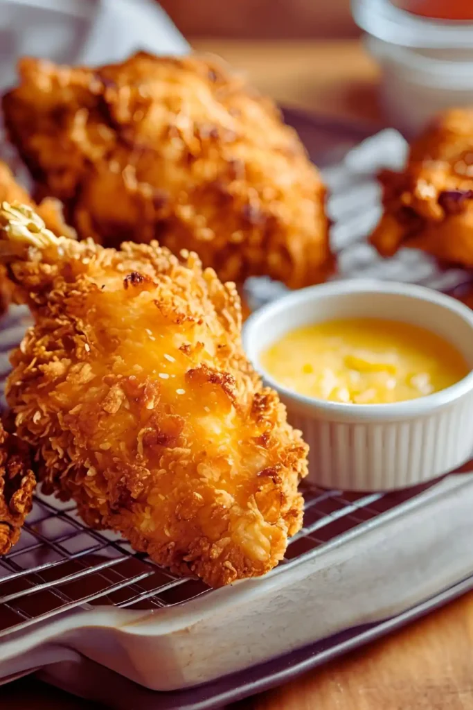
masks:
[[[473,371],[452,387],[416,400],[354,405],[295,393],[262,368],[262,351],[291,329],[350,317],[427,328],[456,346],[473,368],[473,311],[421,286],[334,281],[296,291],[255,312],[243,329],[243,344],[311,447],[311,481],[352,491],[390,490],[435,479],[464,464],[473,449]]]

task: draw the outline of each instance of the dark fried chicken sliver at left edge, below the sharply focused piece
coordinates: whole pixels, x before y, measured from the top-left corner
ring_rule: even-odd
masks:
[[[6,432],[0,421],[0,555],[18,542],[35,486],[28,444]]]

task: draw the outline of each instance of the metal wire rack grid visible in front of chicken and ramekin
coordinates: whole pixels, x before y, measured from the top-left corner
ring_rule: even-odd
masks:
[[[280,564],[303,558],[426,487],[366,495],[304,486],[304,528]],[[38,493],[18,544],[0,561],[0,638],[73,608],[150,611],[202,594],[211,589],[199,579],[176,577],[113,532],[87,528],[74,503]]]

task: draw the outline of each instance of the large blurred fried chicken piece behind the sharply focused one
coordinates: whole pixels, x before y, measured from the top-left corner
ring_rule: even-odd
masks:
[[[274,104],[215,60],[24,58],[19,72],[3,101],[9,135],[83,238],[159,239],[236,283],[300,288],[331,271],[318,171]]]

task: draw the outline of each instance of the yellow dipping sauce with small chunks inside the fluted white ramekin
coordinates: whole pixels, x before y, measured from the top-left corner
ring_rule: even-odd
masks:
[[[454,346],[408,323],[330,320],[286,334],[261,356],[274,380],[308,397],[353,404],[416,399],[450,387],[470,367]]]

